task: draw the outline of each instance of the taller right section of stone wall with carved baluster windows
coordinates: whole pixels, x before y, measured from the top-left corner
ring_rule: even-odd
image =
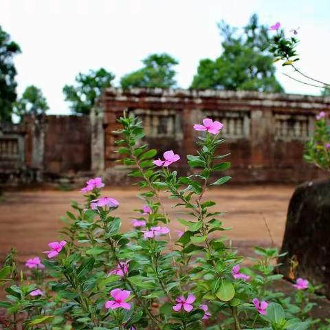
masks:
[[[115,162],[118,154],[112,132],[118,129],[116,120],[123,111],[142,118],[146,141],[159,155],[172,148],[181,159],[195,152],[193,124],[206,117],[223,122],[222,135],[227,141],[221,152],[231,153],[228,174],[233,183],[297,183],[324,175],[303,161],[303,148],[313,134],[315,115],[330,111],[330,98],[248,91],[107,89],[98,105],[97,129],[95,124],[92,127],[97,132],[92,134],[92,144],[103,151],[92,156],[92,163],[99,174],[105,170],[111,181],[120,182],[125,175]],[[184,160],[177,166],[186,172]]]

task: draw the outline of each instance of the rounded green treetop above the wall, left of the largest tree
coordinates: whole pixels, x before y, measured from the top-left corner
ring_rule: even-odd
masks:
[[[173,66],[178,62],[168,54],[151,54],[142,63],[144,67],[131,74],[126,74],[120,80],[123,89],[133,87],[170,88],[175,87],[175,70]]]

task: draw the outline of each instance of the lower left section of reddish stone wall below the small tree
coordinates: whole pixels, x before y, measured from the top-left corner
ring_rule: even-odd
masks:
[[[90,169],[88,116],[26,116],[21,124],[0,126],[0,184],[34,184]]]

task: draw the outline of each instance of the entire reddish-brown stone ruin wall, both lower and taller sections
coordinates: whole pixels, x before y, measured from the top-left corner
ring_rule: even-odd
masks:
[[[61,179],[83,181],[101,175],[111,184],[129,184],[115,153],[116,122],[123,111],[139,116],[146,141],[159,151],[173,149],[187,173],[186,155],[195,153],[192,125],[205,117],[223,122],[231,153],[232,183],[298,183],[325,175],[303,161],[303,146],[315,115],[330,111],[330,98],[233,91],[107,89],[90,116],[26,117],[19,125],[0,124],[0,185]]]

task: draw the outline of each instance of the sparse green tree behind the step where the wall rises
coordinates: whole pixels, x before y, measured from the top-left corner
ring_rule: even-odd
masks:
[[[89,70],[88,74],[78,74],[76,85],[65,85],[63,93],[69,101],[70,109],[74,113],[88,114],[94,106],[104,88],[111,87],[115,76],[102,67],[97,71]]]

